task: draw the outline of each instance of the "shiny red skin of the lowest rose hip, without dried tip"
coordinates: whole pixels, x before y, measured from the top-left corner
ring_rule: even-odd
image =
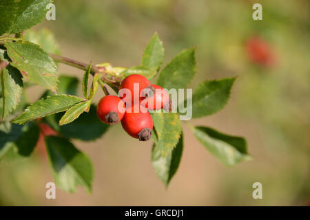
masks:
[[[143,108],[142,106],[140,106]],[[125,112],[123,120],[121,121],[123,129],[132,137],[138,138],[138,133],[142,129],[153,129],[153,120],[151,115],[146,109],[145,111],[139,111],[134,113],[134,106],[130,107],[131,112]]]

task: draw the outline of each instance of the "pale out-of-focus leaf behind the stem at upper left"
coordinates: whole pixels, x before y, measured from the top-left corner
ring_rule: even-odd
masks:
[[[43,50],[50,54],[61,54],[60,47],[56,42],[54,34],[46,28],[39,31],[27,30],[23,33],[23,39],[39,45]]]

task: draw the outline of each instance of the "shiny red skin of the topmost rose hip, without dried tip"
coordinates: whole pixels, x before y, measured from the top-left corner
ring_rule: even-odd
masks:
[[[134,83],[138,83],[139,85],[139,89],[138,89],[138,94],[134,94]],[[141,100],[143,100],[143,98],[145,97],[140,97],[141,91],[143,89],[145,89],[146,87],[148,87],[149,85],[151,85],[151,83],[149,83],[149,80],[147,80],[147,78],[145,76],[139,75],[139,74],[132,74],[130,76],[127,76],[126,78],[123,79],[121,86],[119,87],[119,89],[129,89],[132,93],[132,100],[131,102],[134,103],[134,98],[139,98],[136,103],[140,102]],[[136,97],[134,97],[134,95]],[[126,102],[129,102],[125,95],[123,97],[123,100]],[[130,103],[130,104],[132,104]],[[129,103],[128,103],[129,104]]]

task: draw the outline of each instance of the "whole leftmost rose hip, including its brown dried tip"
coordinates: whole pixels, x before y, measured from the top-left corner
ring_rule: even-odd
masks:
[[[104,96],[97,105],[98,118],[105,124],[116,124],[125,114],[125,103],[118,96]]]

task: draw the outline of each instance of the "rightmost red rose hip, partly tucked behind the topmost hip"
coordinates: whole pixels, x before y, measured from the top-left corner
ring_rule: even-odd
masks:
[[[169,101],[169,94],[159,85],[152,85],[152,87],[155,89],[154,96],[145,98],[141,104],[148,110],[163,109],[166,102]]]

